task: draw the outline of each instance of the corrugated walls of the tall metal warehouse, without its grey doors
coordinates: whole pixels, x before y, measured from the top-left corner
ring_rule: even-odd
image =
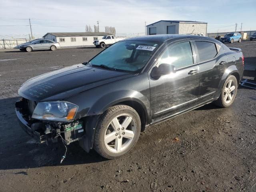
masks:
[[[167,26],[175,25],[175,34],[189,34],[189,33],[202,33],[206,36],[207,24],[206,23],[174,23],[160,21],[150,26],[147,26],[147,35],[149,35],[149,28],[156,27],[156,34],[167,34]],[[193,27],[194,26],[194,27]]]

